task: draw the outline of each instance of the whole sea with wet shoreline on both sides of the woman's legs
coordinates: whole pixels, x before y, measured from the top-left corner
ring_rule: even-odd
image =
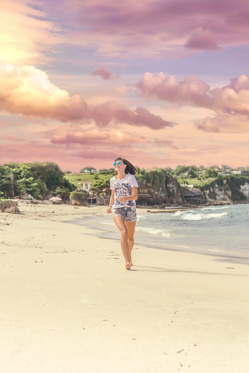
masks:
[[[249,264],[249,204],[137,214],[135,245],[211,254]],[[79,221],[78,221],[79,223]],[[98,236],[119,240],[112,216],[83,216]],[[93,227],[94,225],[94,227]]]

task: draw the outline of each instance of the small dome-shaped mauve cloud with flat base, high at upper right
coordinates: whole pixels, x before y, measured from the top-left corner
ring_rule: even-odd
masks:
[[[199,50],[219,49],[219,46],[215,41],[214,32],[203,30],[202,27],[197,27],[189,33],[189,39],[184,47]]]

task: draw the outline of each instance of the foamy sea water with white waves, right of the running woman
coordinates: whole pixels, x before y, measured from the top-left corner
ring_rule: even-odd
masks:
[[[163,246],[249,255],[249,204],[140,215],[137,230]],[[164,239],[163,239],[164,238]]]

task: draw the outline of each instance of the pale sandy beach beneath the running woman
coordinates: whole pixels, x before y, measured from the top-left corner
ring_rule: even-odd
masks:
[[[128,271],[98,226],[65,223],[106,207],[18,207],[0,214],[1,372],[248,372],[248,266],[135,235]]]

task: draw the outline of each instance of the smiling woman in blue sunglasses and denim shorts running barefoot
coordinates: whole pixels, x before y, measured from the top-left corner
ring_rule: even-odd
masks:
[[[138,184],[134,176],[137,170],[133,164],[123,158],[116,158],[113,166],[115,176],[110,180],[112,195],[106,212],[110,214],[112,209],[113,220],[121,233],[120,243],[125,258],[125,268],[130,269],[137,220],[135,200],[137,200]]]

